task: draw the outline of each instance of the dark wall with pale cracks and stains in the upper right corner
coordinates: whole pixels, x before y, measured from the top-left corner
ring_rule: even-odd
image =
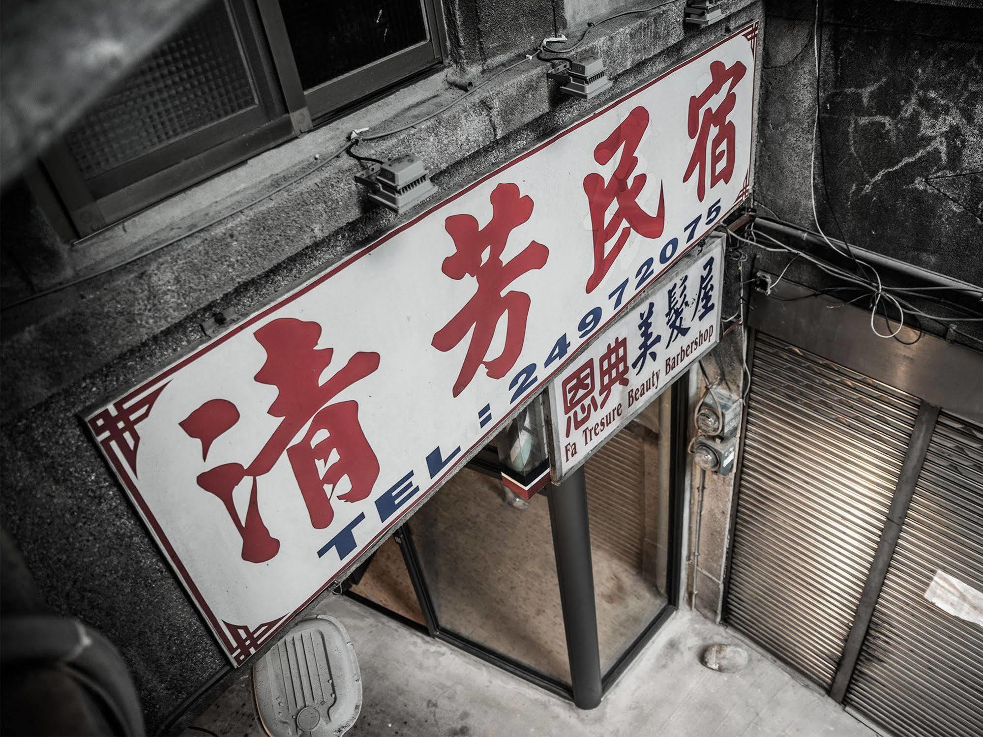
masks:
[[[825,6],[815,149],[815,4],[768,6],[756,198],[815,229],[815,150],[829,235],[983,284],[983,9]]]

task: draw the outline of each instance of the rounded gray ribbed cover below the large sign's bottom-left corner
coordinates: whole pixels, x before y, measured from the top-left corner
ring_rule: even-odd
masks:
[[[359,662],[344,626],[318,614],[253,666],[260,723],[271,737],[336,737],[362,709]]]

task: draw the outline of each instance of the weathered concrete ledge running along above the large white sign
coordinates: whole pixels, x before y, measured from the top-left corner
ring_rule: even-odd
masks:
[[[760,0],[730,0],[724,4],[726,20],[696,28],[683,25],[684,5],[678,0],[591,30],[576,53],[604,58],[614,85],[602,97],[563,98],[546,78],[549,65],[533,59],[433,120],[365,143],[360,152],[385,159],[412,151],[423,158],[439,188],[433,203],[728,29],[764,15]],[[577,38],[580,32],[568,35]],[[496,71],[487,70],[476,84]],[[356,161],[323,157],[355,128],[368,127],[371,134],[400,128],[463,94],[436,74],[74,245],[71,257],[80,276],[143,256],[4,313],[5,417],[16,417],[174,326],[177,334],[133,357],[126,373],[136,380],[201,340],[199,325],[213,312],[253,312],[305,274],[411,217],[367,203],[364,188],[352,179],[360,169]],[[236,212],[316,165],[295,184]],[[229,212],[235,214],[202,229]]]

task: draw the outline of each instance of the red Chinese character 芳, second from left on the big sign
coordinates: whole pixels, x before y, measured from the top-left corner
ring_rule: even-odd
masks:
[[[527,271],[543,268],[549,256],[546,246],[530,241],[522,253],[503,263],[501,255],[508,237],[533,214],[533,200],[528,195],[520,197],[514,184],[495,187],[491,200],[492,219],[484,228],[479,228],[478,220],[471,215],[451,215],[444,222],[454,241],[455,253],[443,259],[440,270],[451,279],[463,279],[467,275],[478,282],[475,296],[434,333],[432,342],[436,350],[449,351],[474,328],[464,365],[454,383],[455,397],[471,383],[483,364],[492,378],[501,378],[515,366],[526,340],[530,299],[525,292],[502,294],[502,290]],[[486,251],[489,255],[483,262]],[[505,345],[501,354],[489,361],[488,350],[495,328],[506,314]]]

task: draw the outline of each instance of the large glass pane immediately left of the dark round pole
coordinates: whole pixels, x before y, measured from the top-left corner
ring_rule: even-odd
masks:
[[[569,683],[543,494],[509,506],[499,480],[464,469],[409,524],[441,629]]]

